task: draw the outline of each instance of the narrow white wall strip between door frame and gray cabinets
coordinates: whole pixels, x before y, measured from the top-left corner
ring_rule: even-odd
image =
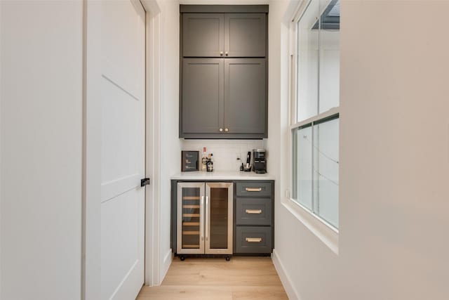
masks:
[[[171,263],[170,247],[170,176],[181,169],[179,136],[179,1],[158,1],[161,8],[161,99],[160,99],[160,280]]]

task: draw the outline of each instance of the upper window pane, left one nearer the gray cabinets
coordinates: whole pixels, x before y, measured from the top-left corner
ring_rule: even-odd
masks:
[[[319,1],[311,1],[297,22],[297,121],[318,114]]]

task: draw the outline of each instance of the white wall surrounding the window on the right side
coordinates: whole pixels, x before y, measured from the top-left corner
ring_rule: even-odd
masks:
[[[288,57],[274,6],[271,61]],[[449,298],[448,10],[447,1],[342,1],[339,254],[279,201],[290,170],[281,159],[275,256],[291,299]],[[277,93],[283,120],[288,100]]]

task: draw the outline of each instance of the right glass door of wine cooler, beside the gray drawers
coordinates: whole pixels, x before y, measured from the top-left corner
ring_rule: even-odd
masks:
[[[232,254],[232,183],[206,183],[206,254]]]

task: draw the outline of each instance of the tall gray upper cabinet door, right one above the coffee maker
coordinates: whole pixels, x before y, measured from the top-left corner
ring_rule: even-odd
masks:
[[[267,89],[264,58],[225,60],[225,131],[264,133]]]

